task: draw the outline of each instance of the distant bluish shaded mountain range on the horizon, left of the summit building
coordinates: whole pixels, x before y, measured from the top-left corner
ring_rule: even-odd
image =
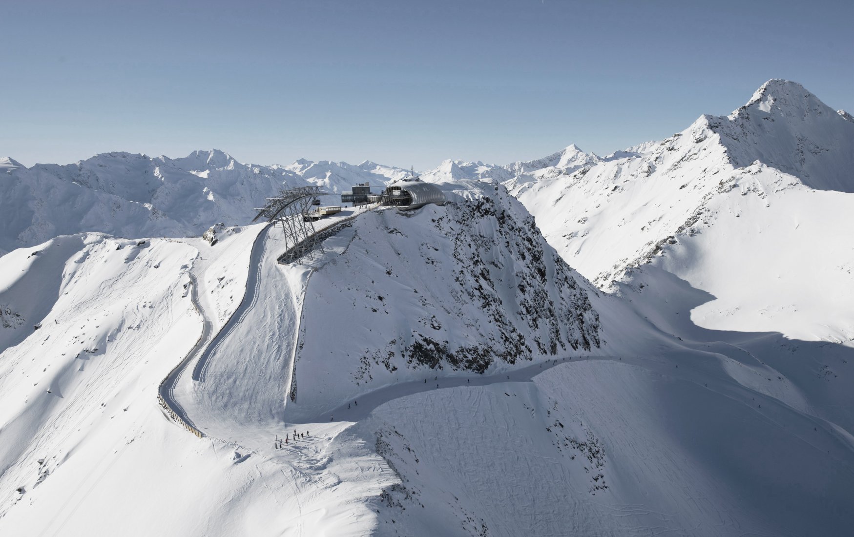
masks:
[[[407,172],[366,161],[241,164],[218,149],[170,159],[104,153],[76,164],[30,168],[0,160],[0,254],[60,235],[195,236],[213,224],[244,225],[281,188],[317,184],[332,193],[377,186]],[[331,196],[334,198],[334,196]],[[331,199],[330,198],[330,199]]]

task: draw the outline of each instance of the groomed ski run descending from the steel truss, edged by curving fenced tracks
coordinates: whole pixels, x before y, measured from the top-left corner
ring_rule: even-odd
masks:
[[[365,212],[346,211],[326,219],[315,235],[325,238],[331,228]],[[202,336],[161,391],[173,412],[205,435],[245,445],[245,438],[257,430],[284,421],[302,301],[313,264],[280,265],[282,252],[269,241],[283,238],[273,225],[255,236],[241,302],[213,334],[213,312],[197,301],[193,289],[194,306],[205,323]]]

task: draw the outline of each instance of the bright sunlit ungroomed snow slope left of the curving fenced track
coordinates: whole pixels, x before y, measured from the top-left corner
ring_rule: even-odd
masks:
[[[61,236],[36,255],[0,258],[0,301],[26,318],[2,329],[15,336],[0,347],[0,534],[272,535],[307,520],[321,533],[363,533],[365,522],[344,517],[346,487],[313,487],[272,450],[197,439],[156,404],[202,328],[190,273],[203,311],[227,318],[262,227],[226,233],[215,247]],[[345,466],[312,477],[332,482],[379,462],[354,447]],[[307,518],[296,520],[300,512]]]

